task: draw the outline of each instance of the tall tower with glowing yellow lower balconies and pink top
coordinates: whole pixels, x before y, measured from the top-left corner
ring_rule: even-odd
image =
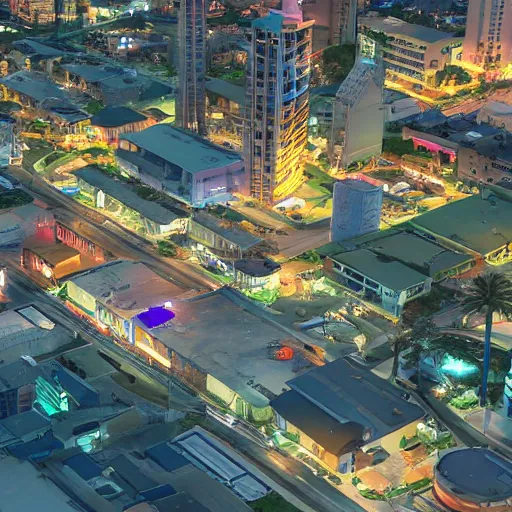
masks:
[[[283,4],[253,21],[247,73],[245,164],[251,195],[268,204],[301,185],[308,131],[314,22],[303,22],[295,0]]]

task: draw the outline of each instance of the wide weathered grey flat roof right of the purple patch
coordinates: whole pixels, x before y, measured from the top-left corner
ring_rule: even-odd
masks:
[[[171,325],[152,329],[151,334],[252,405],[267,406],[269,398],[281,394],[286,381],[297,375],[293,360],[271,359],[267,347],[269,342],[294,339],[293,335],[263,317],[240,294],[217,290],[176,301],[173,311]]]

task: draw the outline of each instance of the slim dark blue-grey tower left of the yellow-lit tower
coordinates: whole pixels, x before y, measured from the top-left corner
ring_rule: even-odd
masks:
[[[176,122],[206,135],[206,11],[207,0],[177,0],[178,96]]]

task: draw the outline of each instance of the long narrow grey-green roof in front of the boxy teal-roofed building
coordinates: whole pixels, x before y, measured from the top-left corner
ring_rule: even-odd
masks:
[[[116,181],[95,167],[84,167],[74,172],[74,175],[91,185],[103,190],[105,194],[117,199],[128,208],[140,213],[142,217],[157,224],[166,226],[178,218],[171,210],[153,201],[146,201],[133,192],[128,185]]]

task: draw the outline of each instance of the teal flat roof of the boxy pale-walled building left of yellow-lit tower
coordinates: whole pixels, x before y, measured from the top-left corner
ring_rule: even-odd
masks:
[[[141,132],[121,135],[136,146],[190,173],[217,169],[241,161],[241,157],[193,133],[168,124],[156,124]]]

